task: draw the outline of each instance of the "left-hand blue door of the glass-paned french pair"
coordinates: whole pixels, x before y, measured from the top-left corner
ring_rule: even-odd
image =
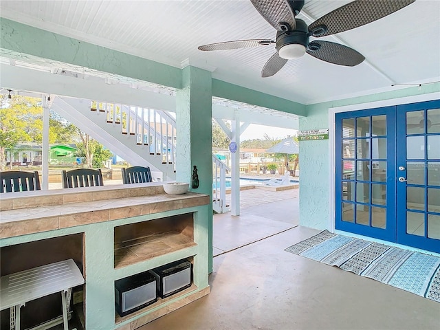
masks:
[[[336,229],[394,241],[395,108],[337,113],[335,136]]]

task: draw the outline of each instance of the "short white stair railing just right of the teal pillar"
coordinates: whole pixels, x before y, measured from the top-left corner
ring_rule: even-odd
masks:
[[[229,211],[226,205],[226,170],[231,169],[216,155],[212,155],[212,162],[212,209],[217,213],[225,213]]]

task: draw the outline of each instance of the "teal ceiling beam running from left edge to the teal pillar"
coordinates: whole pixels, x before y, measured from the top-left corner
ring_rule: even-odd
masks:
[[[169,87],[181,87],[181,69],[1,19],[2,52],[29,54]],[[23,58],[25,60],[25,58]]]

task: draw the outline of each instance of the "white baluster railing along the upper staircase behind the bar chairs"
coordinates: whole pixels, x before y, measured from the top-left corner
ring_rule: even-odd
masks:
[[[169,113],[100,101],[91,101],[90,109],[106,113],[107,123],[119,126],[123,135],[134,135],[134,144],[148,146],[151,157],[161,157],[175,172],[176,121]]]

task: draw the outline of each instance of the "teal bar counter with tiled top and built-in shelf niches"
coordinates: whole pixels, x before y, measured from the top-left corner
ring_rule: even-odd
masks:
[[[166,195],[162,184],[149,183],[0,198],[1,276],[73,259],[85,278],[74,302],[83,302],[86,329],[136,329],[209,293],[208,195]],[[115,314],[115,281],[181,259],[192,262],[191,287],[133,314]],[[22,326],[42,321],[34,314],[60,314],[41,310],[57,297],[27,303]],[[9,311],[1,313],[8,320]]]

